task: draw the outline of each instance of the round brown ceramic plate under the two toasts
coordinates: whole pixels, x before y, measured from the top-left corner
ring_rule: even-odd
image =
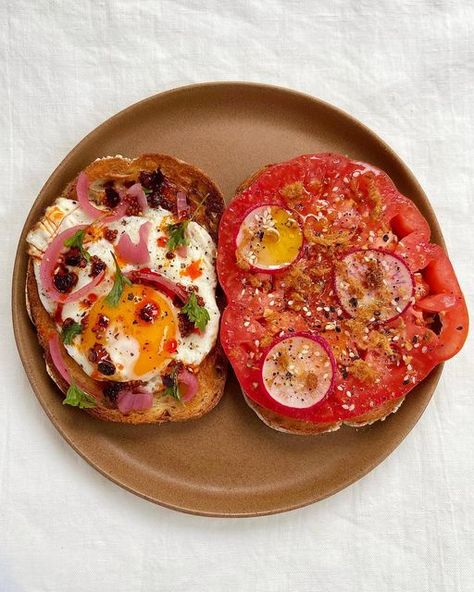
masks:
[[[413,428],[441,368],[385,422],[301,437],[267,428],[246,406],[230,374],[217,408],[197,421],[164,426],[102,423],[64,407],[48,378],[25,310],[25,236],[74,175],[104,155],[172,154],[201,167],[230,199],[262,165],[337,151],[384,169],[411,197],[442,242],[428,199],[408,168],[369,129],[339,109],[290,90],[211,83],[161,93],[115,115],[78,144],[43,187],[26,220],[13,276],[13,324],[34,392],[62,436],[103,475],[153,502],[212,516],[283,512],[360,479]]]

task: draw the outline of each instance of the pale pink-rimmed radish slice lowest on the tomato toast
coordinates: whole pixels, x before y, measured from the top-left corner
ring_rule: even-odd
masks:
[[[328,343],[310,333],[275,341],[263,357],[261,383],[277,403],[307,409],[332,389],[336,362]]]

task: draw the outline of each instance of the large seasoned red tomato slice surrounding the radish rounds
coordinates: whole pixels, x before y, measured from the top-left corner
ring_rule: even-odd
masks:
[[[264,204],[292,212],[304,234],[298,259],[272,273],[245,268],[236,255],[245,216]],[[350,420],[406,395],[457,353],[467,336],[467,309],[445,251],[429,239],[413,202],[374,167],[316,154],[265,169],[232,200],[219,230],[217,270],[228,299],[221,342],[247,396],[304,421]],[[341,306],[336,262],[361,249],[391,253],[411,273],[413,296],[403,310],[393,303],[401,311],[396,318],[353,318]],[[360,294],[363,282],[353,289]],[[307,408],[280,404],[261,384],[268,347],[297,332],[323,338],[335,359],[331,391]]]

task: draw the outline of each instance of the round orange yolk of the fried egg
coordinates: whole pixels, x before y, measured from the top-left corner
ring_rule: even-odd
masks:
[[[176,334],[177,318],[171,300],[153,288],[133,284],[125,286],[117,306],[107,304],[105,297],[95,302],[80,347],[89,357],[91,349],[101,351],[102,346],[117,370],[107,378],[131,380],[131,376],[120,376],[121,371],[130,369],[133,378],[138,378],[166,367],[176,355],[176,350],[168,347],[170,342],[176,343]],[[138,354],[119,351],[117,356],[114,355],[117,349],[120,350],[120,343],[126,343],[121,341],[124,339],[134,340],[132,343],[135,350],[138,348]],[[119,357],[123,357],[120,362]],[[105,378],[98,374],[96,377]]]

